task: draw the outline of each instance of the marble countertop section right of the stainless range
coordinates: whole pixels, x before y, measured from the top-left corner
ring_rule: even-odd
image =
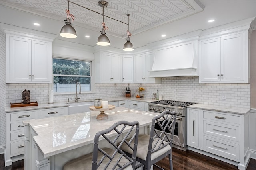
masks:
[[[210,110],[210,111],[220,111],[220,112],[233,113],[233,114],[239,114],[239,115],[245,115],[250,111],[250,109],[246,109],[246,108],[210,105],[210,104],[193,104],[187,107],[194,108],[194,109]]]

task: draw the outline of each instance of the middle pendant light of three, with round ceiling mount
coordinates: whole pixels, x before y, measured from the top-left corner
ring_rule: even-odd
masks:
[[[107,46],[107,45],[110,45],[110,41],[105,33],[105,29],[108,29],[108,27],[106,27],[105,23],[104,23],[104,6],[108,6],[108,2],[101,0],[98,2],[98,5],[102,7],[103,21],[102,21],[102,30],[100,31],[101,35],[100,35],[100,37],[98,37],[97,45]]]

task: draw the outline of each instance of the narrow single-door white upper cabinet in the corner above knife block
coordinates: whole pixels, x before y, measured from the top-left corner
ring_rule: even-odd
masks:
[[[133,60],[134,56],[133,55],[123,55],[122,57],[122,63],[123,63],[123,78],[122,78],[122,82],[133,82],[133,64],[134,64],[134,60]]]

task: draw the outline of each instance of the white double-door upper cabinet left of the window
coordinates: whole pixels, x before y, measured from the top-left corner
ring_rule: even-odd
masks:
[[[6,83],[51,83],[52,42],[6,34]]]

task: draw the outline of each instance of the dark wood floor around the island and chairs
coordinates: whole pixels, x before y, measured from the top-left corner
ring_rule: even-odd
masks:
[[[174,170],[237,170],[237,166],[204,156],[188,150],[186,152],[173,148],[172,151]],[[164,170],[169,169],[168,156],[157,163]],[[13,162],[11,166],[4,167],[4,154],[0,155],[0,170],[24,170],[24,160]],[[154,170],[161,170],[154,166]],[[247,170],[256,170],[256,160],[251,159]]]

